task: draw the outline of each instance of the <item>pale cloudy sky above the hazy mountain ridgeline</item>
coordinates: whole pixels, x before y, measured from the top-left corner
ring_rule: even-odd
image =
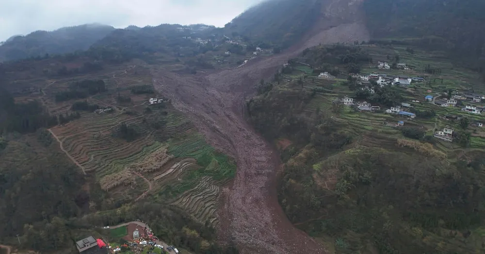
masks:
[[[0,0],[0,41],[85,23],[115,28],[162,23],[224,26],[261,0]]]

